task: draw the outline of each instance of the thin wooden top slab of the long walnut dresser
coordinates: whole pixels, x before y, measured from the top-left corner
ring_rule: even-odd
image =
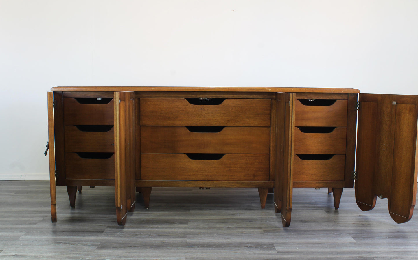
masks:
[[[53,87],[51,91],[209,91],[209,92],[324,92],[324,93],[359,93],[356,88],[326,87]]]

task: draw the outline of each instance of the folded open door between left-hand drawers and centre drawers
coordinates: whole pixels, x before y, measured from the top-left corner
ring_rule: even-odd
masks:
[[[134,92],[115,92],[115,199],[117,224],[125,225],[135,208]]]

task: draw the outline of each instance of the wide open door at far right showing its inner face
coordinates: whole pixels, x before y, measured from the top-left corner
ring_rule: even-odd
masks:
[[[359,94],[356,202],[387,198],[396,223],[410,220],[417,188],[418,96]]]

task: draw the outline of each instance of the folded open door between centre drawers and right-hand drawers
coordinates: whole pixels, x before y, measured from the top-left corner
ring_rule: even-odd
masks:
[[[274,179],[274,209],[282,215],[283,227],[288,227],[292,213],[293,189],[293,125],[295,94],[277,93],[276,109],[276,169]],[[273,107],[274,107],[273,106]]]

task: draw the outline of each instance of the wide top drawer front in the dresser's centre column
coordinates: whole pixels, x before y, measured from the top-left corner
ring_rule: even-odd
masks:
[[[141,98],[141,125],[270,126],[270,99],[225,99],[193,105],[184,98]]]

